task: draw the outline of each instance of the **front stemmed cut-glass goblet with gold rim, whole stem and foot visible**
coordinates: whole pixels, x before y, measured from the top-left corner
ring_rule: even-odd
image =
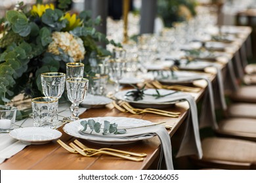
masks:
[[[89,80],[87,78],[67,78],[66,88],[68,99],[72,102],[70,110],[72,116],[68,120],[74,121],[79,119],[79,104],[85,99],[87,94]]]

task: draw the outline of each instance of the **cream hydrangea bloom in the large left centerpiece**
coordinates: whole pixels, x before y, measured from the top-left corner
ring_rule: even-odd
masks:
[[[85,47],[79,37],[74,37],[68,32],[54,32],[52,34],[53,42],[48,46],[48,52],[59,55],[58,48],[61,48],[68,56],[79,61],[85,57]]]

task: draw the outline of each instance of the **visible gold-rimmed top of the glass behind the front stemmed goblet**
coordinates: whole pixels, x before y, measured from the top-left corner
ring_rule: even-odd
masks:
[[[67,78],[83,78],[85,65],[79,62],[66,63]]]

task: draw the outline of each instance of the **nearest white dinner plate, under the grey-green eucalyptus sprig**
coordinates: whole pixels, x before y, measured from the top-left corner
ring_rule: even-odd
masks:
[[[93,119],[95,122],[99,122],[100,124],[104,125],[104,121],[110,122],[110,124],[117,124],[117,129],[127,129],[127,132],[124,134],[113,134],[113,133],[106,133],[106,135],[102,135],[102,131],[100,133],[96,133],[93,131],[93,133],[86,134],[79,133],[81,129],[83,129],[83,126],[80,124],[83,120],[90,120]],[[154,123],[146,120],[140,120],[137,118],[125,118],[125,117],[113,117],[113,116],[106,116],[106,117],[97,117],[97,118],[85,118],[81,120],[77,120],[74,122],[70,122],[69,124],[64,125],[63,130],[68,135],[71,135],[73,137],[85,139],[87,141],[95,142],[98,144],[129,144],[132,142],[137,142],[144,139],[149,139],[154,137],[152,134],[144,135],[141,137],[131,137],[127,138],[129,136],[135,136],[139,135],[142,126],[144,125],[152,125]],[[139,128],[133,128],[128,129],[131,127],[139,127]],[[87,129],[87,133],[91,132],[91,129]]]

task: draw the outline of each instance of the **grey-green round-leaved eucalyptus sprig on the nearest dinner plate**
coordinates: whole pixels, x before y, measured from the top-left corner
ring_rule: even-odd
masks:
[[[99,122],[95,122],[95,120],[91,119],[91,120],[83,120],[80,122],[80,124],[83,126],[83,129],[81,130],[81,132],[85,133],[85,131],[87,130],[87,127],[89,126],[89,128],[91,129],[91,133],[93,133],[93,131],[95,131],[96,133],[100,133],[100,129],[101,129],[101,125]],[[104,120],[104,127],[102,129],[102,134],[106,135],[106,133],[114,133],[114,134],[123,134],[126,133],[125,129],[117,129],[117,124],[110,124],[110,122]]]

